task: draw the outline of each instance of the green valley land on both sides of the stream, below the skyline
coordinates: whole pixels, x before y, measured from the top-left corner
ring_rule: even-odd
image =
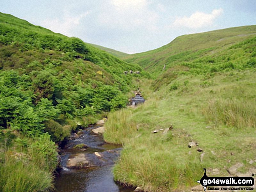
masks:
[[[57,167],[64,172],[57,191],[69,185],[68,175],[82,178],[73,181],[83,191],[104,185],[90,174],[106,173],[116,191],[145,192],[202,191],[196,181],[203,168],[208,176],[251,176],[255,79],[255,25],[183,35],[125,54],[0,13],[0,191],[53,191]],[[129,106],[138,90],[145,102]],[[65,172],[61,147],[94,141],[88,131],[102,118],[102,145],[75,154],[104,156],[122,146],[114,165]],[[84,140],[71,141],[79,131]]]

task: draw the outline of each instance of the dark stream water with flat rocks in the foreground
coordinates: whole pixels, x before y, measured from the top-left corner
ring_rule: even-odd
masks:
[[[92,133],[98,127],[82,130],[79,137],[68,141],[59,152],[62,169],[55,179],[55,192],[133,192],[134,189],[125,189],[113,179],[113,164],[122,146],[107,144],[102,135]],[[86,149],[74,148],[78,144],[85,144]],[[82,168],[67,168],[78,154],[84,155],[89,163]]]

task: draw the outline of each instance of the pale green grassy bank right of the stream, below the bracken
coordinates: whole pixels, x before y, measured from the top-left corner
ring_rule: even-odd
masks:
[[[140,81],[146,103],[113,112],[106,123],[106,140],[124,145],[115,179],[150,192],[189,191],[203,167],[208,175],[217,168],[224,176],[237,162],[244,164],[239,172],[255,166],[249,164],[256,158],[255,78],[255,71],[219,73],[207,80],[180,75],[154,93],[149,82]],[[151,133],[171,125],[167,134]],[[188,148],[190,141],[204,155]]]

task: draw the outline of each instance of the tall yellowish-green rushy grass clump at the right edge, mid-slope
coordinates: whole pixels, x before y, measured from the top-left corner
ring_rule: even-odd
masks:
[[[246,99],[213,99],[203,110],[208,121],[236,128],[256,128],[256,101]]]

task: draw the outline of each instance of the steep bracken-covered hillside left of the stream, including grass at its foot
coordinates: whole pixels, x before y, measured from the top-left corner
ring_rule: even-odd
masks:
[[[79,38],[0,13],[0,191],[52,189],[55,143],[126,107],[129,70],[144,75]]]

